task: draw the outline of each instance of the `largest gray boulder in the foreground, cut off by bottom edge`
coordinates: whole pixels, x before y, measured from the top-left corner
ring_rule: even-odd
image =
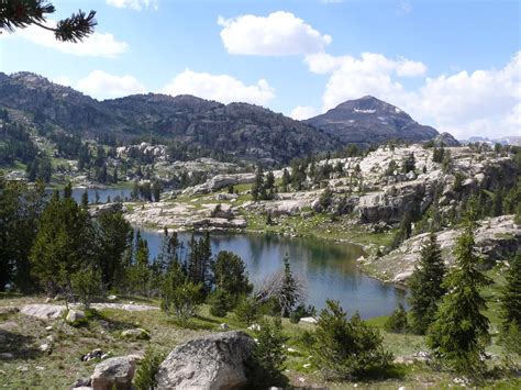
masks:
[[[236,389],[247,385],[254,341],[244,332],[217,333],[177,346],[157,374],[159,389]]]

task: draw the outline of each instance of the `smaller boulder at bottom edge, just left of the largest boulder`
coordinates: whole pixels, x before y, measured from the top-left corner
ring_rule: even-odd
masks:
[[[96,366],[90,386],[95,390],[132,389],[135,360],[126,356],[112,357]]]

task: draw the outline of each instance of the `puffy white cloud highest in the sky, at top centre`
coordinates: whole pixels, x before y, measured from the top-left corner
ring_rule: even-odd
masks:
[[[252,14],[219,18],[221,38],[230,54],[289,56],[318,53],[331,43],[291,12],[277,11],[268,16]]]

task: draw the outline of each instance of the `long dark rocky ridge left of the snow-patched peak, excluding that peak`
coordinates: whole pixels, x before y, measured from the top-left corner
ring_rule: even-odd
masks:
[[[254,104],[156,93],[98,101],[30,73],[0,74],[0,108],[43,132],[113,142],[154,136],[267,164],[342,146],[313,126]]]

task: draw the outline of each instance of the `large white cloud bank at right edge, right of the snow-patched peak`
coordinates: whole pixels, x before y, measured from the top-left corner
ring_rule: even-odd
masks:
[[[501,69],[428,78],[411,110],[458,136],[521,135],[521,52]]]

